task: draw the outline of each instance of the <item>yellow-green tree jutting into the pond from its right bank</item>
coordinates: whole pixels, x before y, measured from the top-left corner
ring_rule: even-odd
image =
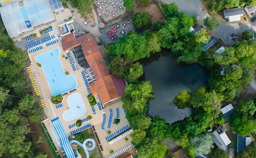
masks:
[[[190,92],[190,90],[188,90]],[[173,101],[178,108],[185,108],[187,107],[187,102],[190,99],[190,94],[186,90],[182,90],[180,94],[178,94]]]

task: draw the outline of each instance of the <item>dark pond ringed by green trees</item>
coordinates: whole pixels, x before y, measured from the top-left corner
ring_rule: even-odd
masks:
[[[198,63],[177,63],[176,56],[168,49],[138,61],[144,71],[139,80],[149,80],[153,84],[154,99],[149,101],[149,115],[159,115],[168,123],[190,116],[189,108],[178,109],[168,102],[184,89],[194,91],[204,86],[209,78],[209,70]]]

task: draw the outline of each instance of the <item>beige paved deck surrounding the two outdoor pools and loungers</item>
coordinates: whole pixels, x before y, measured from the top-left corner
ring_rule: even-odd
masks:
[[[125,137],[125,138],[128,138],[127,142],[124,141],[125,138],[122,138],[119,141],[117,141],[116,143],[113,143],[112,145],[110,145],[105,139],[105,137],[108,136],[107,132],[109,130],[107,128],[107,125],[108,125],[109,109],[110,108],[113,109],[113,113],[114,113],[113,120],[116,118],[116,108],[119,108],[119,111],[120,111],[120,122],[119,122],[118,125],[115,125],[115,124],[112,123],[112,127],[110,129],[112,131],[112,133],[121,129],[123,126],[126,126],[126,125],[130,126],[129,123],[127,122],[126,118],[125,118],[125,114],[124,114],[123,109],[122,109],[122,104],[123,103],[121,101],[119,101],[119,102],[117,102],[113,105],[110,105],[106,108],[103,108],[101,111],[99,111],[99,108],[98,108],[97,105],[94,105],[95,110],[96,110],[96,114],[93,115],[93,112],[91,110],[91,106],[89,104],[89,101],[87,100],[88,93],[87,93],[86,86],[84,84],[84,80],[83,80],[83,77],[82,77],[82,74],[81,74],[82,68],[80,68],[80,70],[73,71],[71,65],[69,64],[69,60],[66,60],[65,58],[62,58],[62,55],[66,56],[66,52],[63,51],[62,46],[61,46],[61,42],[56,43],[52,46],[48,46],[48,47],[45,44],[43,44],[42,46],[43,46],[43,50],[39,50],[35,53],[30,53],[29,57],[30,57],[30,60],[31,60],[31,63],[32,63],[31,67],[33,67],[32,70],[35,71],[34,74],[38,74],[38,75],[35,75],[35,77],[36,77],[36,80],[38,82],[37,84],[39,85],[39,87],[41,88],[41,91],[42,91],[41,92],[41,97],[44,98],[44,100],[47,102],[47,105],[48,105],[47,110],[46,110],[48,112],[48,113],[46,113],[47,119],[44,120],[44,124],[45,124],[46,128],[48,129],[49,134],[52,137],[52,140],[53,140],[57,150],[61,151],[62,148],[60,148],[57,145],[57,143],[54,139],[54,136],[51,132],[51,129],[53,128],[51,120],[55,119],[56,117],[59,117],[60,122],[62,123],[67,135],[70,136],[70,132],[73,131],[74,129],[77,129],[77,127],[69,129],[69,125],[72,125],[72,124],[76,123],[76,120],[78,120],[78,119],[85,119],[88,115],[91,115],[93,118],[89,121],[83,122],[82,126],[87,125],[88,123],[91,123],[91,125],[94,125],[94,128],[95,128],[95,130],[98,134],[101,146],[103,148],[102,154],[106,158],[111,155],[109,153],[110,150],[113,150],[114,153],[115,153],[115,152],[119,151],[120,149],[123,149],[124,147],[130,145],[131,144],[131,138],[130,138],[129,135]],[[63,101],[62,101],[63,107],[57,109],[55,107],[55,105],[52,104],[52,102],[51,102],[51,97],[52,97],[51,90],[49,88],[46,76],[44,75],[43,68],[37,66],[35,56],[37,56],[41,53],[44,53],[46,51],[52,50],[52,49],[54,49],[58,46],[60,47],[60,50],[61,50],[59,58],[60,58],[60,62],[62,64],[62,67],[64,68],[64,71],[68,71],[69,74],[74,75],[74,77],[76,79],[76,82],[77,82],[77,87],[76,87],[76,91],[73,91],[71,93],[68,93],[68,94],[62,96],[63,97]],[[86,108],[86,113],[85,113],[85,115],[82,115],[82,116],[80,116],[76,119],[73,119],[73,120],[70,120],[70,121],[65,121],[62,117],[62,114],[63,114],[64,111],[69,109],[69,105],[68,105],[68,102],[67,102],[67,97],[70,94],[74,94],[74,93],[81,94],[82,100],[83,100],[85,108]],[[97,96],[95,96],[95,98],[96,98],[97,102],[99,102]],[[106,115],[107,115],[105,130],[101,129],[101,124],[102,124],[102,121],[103,121],[102,112],[105,112]]]

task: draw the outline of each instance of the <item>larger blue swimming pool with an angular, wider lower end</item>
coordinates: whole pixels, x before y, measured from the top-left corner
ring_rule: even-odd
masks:
[[[77,85],[73,75],[65,75],[59,54],[60,49],[56,47],[35,57],[37,63],[40,63],[44,69],[53,96],[74,89]]]

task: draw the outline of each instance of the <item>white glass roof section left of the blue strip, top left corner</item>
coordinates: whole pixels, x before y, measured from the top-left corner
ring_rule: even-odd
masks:
[[[2,6],[0,13],[10,37],[18,36],[28,31],[20,10],[19,2],[12,2]]]

